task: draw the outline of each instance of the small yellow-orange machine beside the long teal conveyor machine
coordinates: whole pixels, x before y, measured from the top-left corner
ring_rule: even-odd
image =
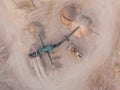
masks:
[[[70,52],[77,57],[77,60],[79,60],[79,61],[81,60],[81,54],[77,50],[75,45],[73,45],[73,44],[69,45],[68,50],[70,50]]]

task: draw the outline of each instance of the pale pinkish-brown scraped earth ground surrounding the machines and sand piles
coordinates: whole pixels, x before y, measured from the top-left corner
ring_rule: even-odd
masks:
[[[113,67],[119,5],[119,0],[1,0],[0,90],[117,90]],[[60,20],[65,6],[77,9],[75,21],[91,33],[73,35],[51,52],[54,65],[47,54],[29,58],[42,48],[39,33],[48,45],[71,32]],[[80,51],[81,61],[67,50],[70,43]]]

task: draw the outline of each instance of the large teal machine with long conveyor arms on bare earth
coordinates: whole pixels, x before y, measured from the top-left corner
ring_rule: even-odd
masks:
[[[65,42],[66,40],[69,39],[69,37],[79,29],[80,27],[76,27],[68,36],[65,37],[65,39],[63,39],[61,42],[57,43],[57,44],[50,44],[50,45],[44,45],[43,43],[43,40],[41,39],[41,35],[39,34],[39,37],[40,37],[40,41],[42,43],[42,46],[43,48],[37,50],[36,52],[33,52],[33,53],[30,53],[29,54],[29,57],[30,58],[34,58],[36,56],[39,56],[39,55],[42,55],[44,53],[47,53],[48,54],[48,57],[50,58],[50,62],[51,64],[53,64],[52,62],[52,58],[51,58],[51,55],[50,55],[50,52],[53,51],[55,48],[59,47],[63,42]]]

